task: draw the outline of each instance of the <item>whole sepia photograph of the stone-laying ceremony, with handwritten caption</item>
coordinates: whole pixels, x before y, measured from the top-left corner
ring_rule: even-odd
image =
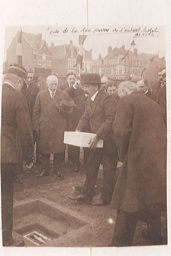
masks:
[[[167,245],[166,28],[7,26],[3,246]]]

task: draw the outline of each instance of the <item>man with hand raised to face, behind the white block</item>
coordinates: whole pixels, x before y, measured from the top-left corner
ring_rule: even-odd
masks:
[[[80,85],[80,81],[77,80],[74,85],[71,85],[66,89],[69,97],[71,97],[74,102],[74,110],[72,111],[69,117],[69,126],[68,131],[75,131],[76,127],[79,123],[79,119],[83,116],[87,97]],[[90,125],[88,123],[87,127],[85,127],[84,132],[91,132]],[[89,156],[89,149],[83,148],[84,150],[84,166],[86,167],[87,159]],[[79,161],[80,147],[68,145],[68,157],[72,164],[72,170],[74,172],[79,171],[80,161]]]

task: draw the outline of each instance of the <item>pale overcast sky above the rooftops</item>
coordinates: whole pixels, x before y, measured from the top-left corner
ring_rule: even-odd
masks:
[[[102,27],[102,26],[101,26]],[[107,27],[107,26],[105,26]],[[124,26],[123,26],[124,27]],[[96,27],[95,27],[96,28]],[[42,38],[46,39],[48,45],[51,45],[53,42],[54,45],[69,44],[69,41],[73,41],[74,45],[78,46],[78,35],[70,36],[49,36],[46,33],[47,26],[36,26],[29,27],[23,26],[22,31],[31,34],[42,33]],[[6,49],[9,47],[12,38],[20,30],[19,26],[15,27],[6,27],[5,31],[5,47],[4,47],[4,61],[6,61]],[[128,50],[133,39],[136,43],[136,48],[138,54],[145,52],[150,54],[158,54],[161,58],[162,56],[166,57],[166,35],[165,27],[158,27],[160,33],[158,37],[137,37],[133,38],[133,33],[124,33],[124,34],[103,34],[103,35],[88,35],[85,42],[84,48],[86,50],[93,49],[92,58],[97,59],[99,53],[102,57],[107,55],[108,46],[111,45],[112,49],[114,47],[121,47],[122,44],[125,45],[125,49]]]

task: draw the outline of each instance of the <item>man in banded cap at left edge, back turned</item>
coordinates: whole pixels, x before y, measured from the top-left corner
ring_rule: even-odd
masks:
[[[13,184],[18,163],[17,132],[22,148],[23,160],[28,166],[34,156],[31,119],[21,87],[27,77],[26,69],[18,64],[10,65],[4,75],[2,86],[1,117],[1,193],[3,246],[23,246],[14,241],[13,228]]]

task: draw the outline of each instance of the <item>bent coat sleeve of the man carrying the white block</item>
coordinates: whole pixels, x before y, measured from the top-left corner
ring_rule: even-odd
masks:
[[[101,139],[105,139],[108,134],[112,131],[112,124],[115,120],[116,109],[117,109],[117,101],[115,98],[109,97],[104,99],[103,108],[105,111],[105,122],[101,125],[99,130],[96,131],[97,136]]]

